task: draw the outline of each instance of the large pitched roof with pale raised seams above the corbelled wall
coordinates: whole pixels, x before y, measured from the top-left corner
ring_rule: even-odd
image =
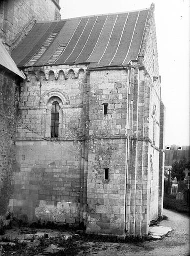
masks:
[[[37,22],[12,58],[19,67],[127,65],[137,59],[149,9]]]

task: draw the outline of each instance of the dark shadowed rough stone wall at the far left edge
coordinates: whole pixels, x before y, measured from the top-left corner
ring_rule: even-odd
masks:
[[[7,214],[16,168],[15,131],[18,85],[15,75],[0,68],[0,218]]]

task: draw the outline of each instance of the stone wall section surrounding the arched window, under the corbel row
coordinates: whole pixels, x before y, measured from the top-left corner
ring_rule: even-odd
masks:
[[[16,141],[18,168],[9,200],[10,211],[20,219],[77,224],[81,218],[84,70],[76,66],[25,70]],[[55,100],[60,105],[59,137],[51,138],[51,104]]]

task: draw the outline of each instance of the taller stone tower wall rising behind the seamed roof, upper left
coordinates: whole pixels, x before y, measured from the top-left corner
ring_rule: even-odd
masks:
[[[60,19],[54,0],[0,1],[0,37],[7,50],[12,50],[32,28],[35,20]]]

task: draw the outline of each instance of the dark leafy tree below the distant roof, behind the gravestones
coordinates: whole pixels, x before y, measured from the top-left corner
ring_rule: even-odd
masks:
[[[172,178],[176,177],[177,180],[183,180],[186,176],[186,173],[184,173],[184,170],[186,168],[190,169],[190,161],[187,161],[185,159],[174,161],[171,171]]]

